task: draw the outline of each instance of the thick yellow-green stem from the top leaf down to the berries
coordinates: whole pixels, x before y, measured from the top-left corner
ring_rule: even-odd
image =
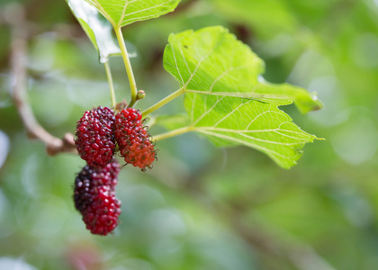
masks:
[[[129,58],[129,55],[127,53],[125,41],[123,40],[121,27],[120,26],[114,26],[114,31],[115,31],[115,34],[117,36],[118,43],[120,44],[123,63],[125,64],[126,73],[127,73],[128,78],[129,78],[130,91],[131,91],[131,100],[130,100],[130,103],[129,103],[129,107],[132,107],[137,102],[137,94],[138,94],[137,84],[135,83],[135,78],[134,78],[134,75],[132,73],[130,58]]]

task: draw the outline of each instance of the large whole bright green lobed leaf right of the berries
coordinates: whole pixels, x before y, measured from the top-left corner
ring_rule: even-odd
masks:
[[[222,27],[171,35],[164,67],[184,89],[190,130],[217,146],[255,148],[289,168],[316,139],[278,106],[294,102],[309,112],[321,103],[302,88],[260,79],[264,62]]]

